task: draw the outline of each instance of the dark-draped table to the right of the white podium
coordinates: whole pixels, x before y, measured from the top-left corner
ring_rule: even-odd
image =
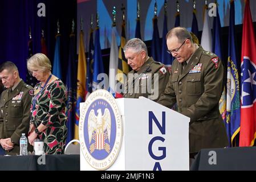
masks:
[[[202,149],[198,152],[190,170],[256,170],[256,147]]]

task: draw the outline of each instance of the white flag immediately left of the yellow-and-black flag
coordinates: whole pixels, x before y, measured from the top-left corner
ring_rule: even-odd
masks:
[[[118,47],[116,44],[116,26],[112,27],[112,41],[109,57],[109,92],[115,96],[116,74],[118,64]]]

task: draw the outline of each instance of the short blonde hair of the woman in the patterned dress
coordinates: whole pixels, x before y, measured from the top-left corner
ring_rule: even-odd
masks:
[[[43,53],[36,53],[27,60],[27,69],[32,72],[33,69],[39,69],[42,72],[51,71],[51,62]]]

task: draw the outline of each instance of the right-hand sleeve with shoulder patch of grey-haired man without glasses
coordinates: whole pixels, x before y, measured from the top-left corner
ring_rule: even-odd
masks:
[[[152,86],[154,88],[154,92],[152,94],[149,94],[149,98],[157,102],[161,94],[164,92],[166,85],[168,84],[170,73],[166,67],[161,67],[159,71],[157,71],[158,77],[155,77],[155,74],[152,77]],[[158,82],[156,82],[157,80]]]

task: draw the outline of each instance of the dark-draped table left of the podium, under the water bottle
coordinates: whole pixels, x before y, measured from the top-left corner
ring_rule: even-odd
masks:
[[[80,155],[0,156],[0,171],[79,171]]]

